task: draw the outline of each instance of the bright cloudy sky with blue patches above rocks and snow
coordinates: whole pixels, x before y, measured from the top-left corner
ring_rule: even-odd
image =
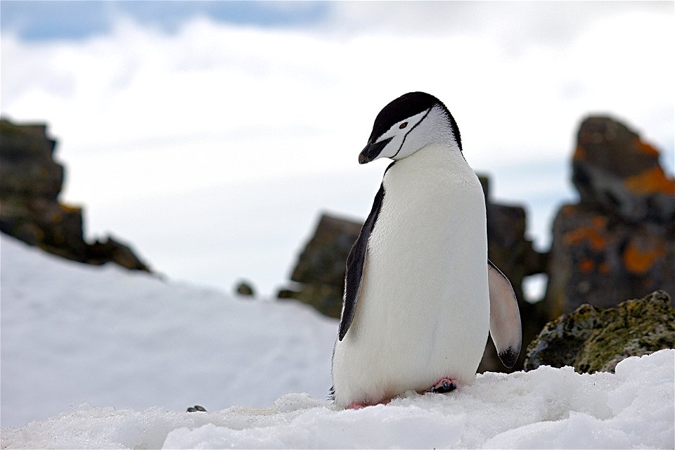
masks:
[[[49,124],[88,238],[177,281],[275,295],[320,214],[365,219],[388,163],[356,157],[408,91],[444,101],[541,250],[587,115],[674,172],[671,1],[3,0],[0,25],[1,115]]]

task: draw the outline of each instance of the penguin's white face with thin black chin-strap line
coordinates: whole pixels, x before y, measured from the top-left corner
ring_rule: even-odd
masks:
[[[412,155],[420,148],[428,146],[434,142],[447,142],[448,139],[454,142],[452,131],[444,111],[438,107],[432,107],[422,113],[401,120],[392,125],[382,136],[378,137],[374,144],[368,147],[378,147],[378,143],[384,145],[377,155],[371,151],[368,153],[367,160],[370,162],[379,158],[390,158],[392,160],[401,160]],[[385,141],[389,140],[385,143]]]

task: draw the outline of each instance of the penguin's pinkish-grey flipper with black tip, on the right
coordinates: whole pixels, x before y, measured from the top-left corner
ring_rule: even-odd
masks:
[[[506,275],[487,260],[490,291],[490,335],[504,366],[511,368],[520,354],[522,333],[518,300]]]

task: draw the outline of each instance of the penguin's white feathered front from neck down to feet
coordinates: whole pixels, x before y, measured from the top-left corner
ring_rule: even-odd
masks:
[[[339,406],[444,377],[472,383],[487,342],[487,232],[480,183],[458,151],[432,145],[385,175],[361,297],[335,345]]]

